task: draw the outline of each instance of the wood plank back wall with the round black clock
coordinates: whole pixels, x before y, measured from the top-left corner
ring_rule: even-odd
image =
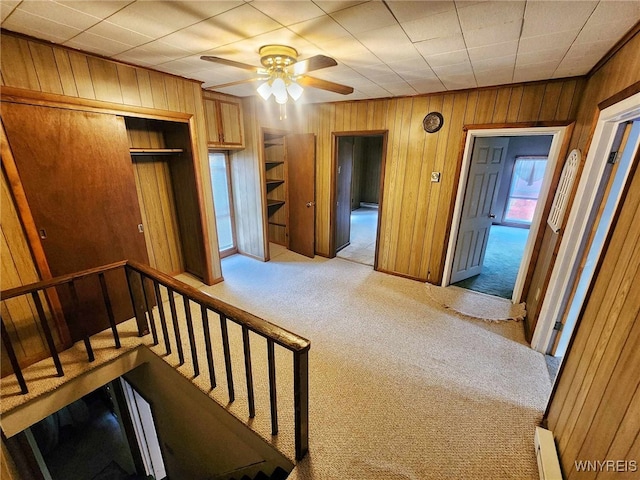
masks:
[[[316,146],[316,252],[330,252],[330,192],[334,132],[388,130],[380,232],[380,270],[432,283],[442,279],[451,213],[468,124],[574,119],[582,79],[518,84],[406,98],[290,108],[286,121],[259,109],[262,126],[313,132]],[[264,103],[264,102],[263,102]],[[422,129],[430,111],[444,115],[435,134]],[[431,183],[432,171],[441,182]]]

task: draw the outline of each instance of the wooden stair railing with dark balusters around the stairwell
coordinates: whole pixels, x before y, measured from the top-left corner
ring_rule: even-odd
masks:
[[[275,363],[275,345],[289,350],[293,354],[293,395],[294,395],[294,429],[295,429],[295,456],[296,460],[301,460],[309,448],[309,348],[310,342],[305,338],[296,335],[293,332],[285,330],[273,323],[270,323],[260,317],[252,315],[240,308],[223,302],[222,300],[210,297],[201,291],[184,284],[168,275],[165,275],[147,265],[134,261],[121,261],[103,267],[98,267],[71,275],[57,277],[51,280],[12,288],[0,292],[2,301],[9,300],[22,295],[30,295],[36,305],[39,316],[39,322],[42,326],[49,354],[53,358],[58,376],[63,376],[64,371],[56,351],[53,336],[51,334],[42,302],[40,292],[49,288],[68,285],[71,292],[71,298],[74,303],[78,302],[78,296],[75,294],[75,282],[89,276],[97,275],[100,280],[103,299],[106,311],[109,317],[112,335],[114,338],[114,348],[120,348],[120,339],[118,336],[118,328],[113,317],[111,301],[109,298],[109,290],[105,280],[105,272],[117,269],[124,269],[127,276],[127,283],[131,296],[133,311],[136,317],[138,333],[140,336],[151,333],[153,345],[164,344],[166,354],[172,353],[170,332],[167,324],[167,311],[162,300],[163,287],[166,291],[169,303],[169,315],[172,322],[172,330],[176,345],[176,353],[178,355],[180,365],[185,363],[182,331],[184,325],[180,325],[178,316],[178,305],[176,295],[182,297],[182,306],[185,315],[186,333],[188,335],[189,349],[191,353],[191,361],[193,363],[194,377],[200,375],[200,355],[197,343],[195,341],[195,333],[193,327],[193,318],[191,315],[191,304],[195,303],[200,306],[202,314],[202,328],[204,333],[205,356],[209,383],[213,390],[216,385],[216,372],[213,363],[212,340],[209,326],[209,312],[218,314],[220,321],[220,330],[222,336],[223,356],[225,361],[225,374],[227,380],[229,402],[235,400],[234,379],[231,369],[231,349],[228,335],[228,321],[232,321],[242,328],[242,343],[245,364],[245,381],[247,386],[247,401],[249,407],[249,417],[255,416],[255,397],[253,390],[253,372],[251,368],[251,348],[249,342],[249,332],[264,337],[267,341],[267,363],[269,376],[269,399],[271,411],[271,434],[278,433],[278,405],[276,398],[276,363]],[[157,307],[157,308],[155,308]],[[158,320],[162,331],[162,337],[158,335],[156,324],[156,315],[154,309],[157,310]],[[1,319],[0,319],[1,320]],[[14,353],[11,339],[7,334],[4,321],[2,323],[2,341],[6,352],[9,356],[13,372],[16,375],[18,384],[23,394],[28,393],[28,387],[25,382],[19,362]],[[150,331],[149,331],[150,327]],[[91,339],[89,335],[84,335],[84,345],[87,351],[89,362],[94,360],[93,349],[91,347]]]

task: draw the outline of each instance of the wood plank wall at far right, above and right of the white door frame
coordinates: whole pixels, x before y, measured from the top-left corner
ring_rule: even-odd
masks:
[[[571,144],[585,149],[598,103],[640,81],[636,34],[591,76]],[[637,159],[636,159],[637,162]],[[566,478],[576,460],[640,462],[640,172],[635,170],[548,407]],[[539,265],[546,268],[545,265]],[[589,478],[636,478],[602,472]]]

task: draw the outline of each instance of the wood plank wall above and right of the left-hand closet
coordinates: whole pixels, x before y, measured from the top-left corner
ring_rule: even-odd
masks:
[[[131,107],[194,116],[203,202],[214,279],[222,278],[207,156],[207,134],[199,82],[133,67],[46,42],[2,32],[0,84]]]

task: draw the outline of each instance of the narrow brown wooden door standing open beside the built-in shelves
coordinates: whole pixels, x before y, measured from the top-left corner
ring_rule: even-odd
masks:
[[[285,138],[289,250],[315,256],[316,142],[313,133]]]

